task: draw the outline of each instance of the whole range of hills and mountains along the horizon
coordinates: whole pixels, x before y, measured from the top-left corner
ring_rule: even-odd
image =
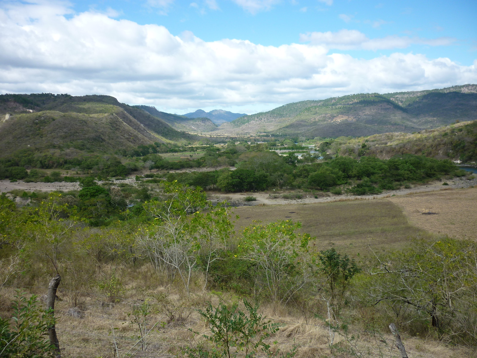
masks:
[[[187,144],[258,134],[312,138],[413,133],[476,120],[477,85],[301,101],[246,116],[210,111],[207,115],[223,114],[222,119],[241,116],[220,126],[204,114],[198,110],[187,115],[201,117],[178,116],[119,103],[107,95],[0,95],[0,157],[26,148],[74,156],[79,151],[114,153],[154,142]]]

